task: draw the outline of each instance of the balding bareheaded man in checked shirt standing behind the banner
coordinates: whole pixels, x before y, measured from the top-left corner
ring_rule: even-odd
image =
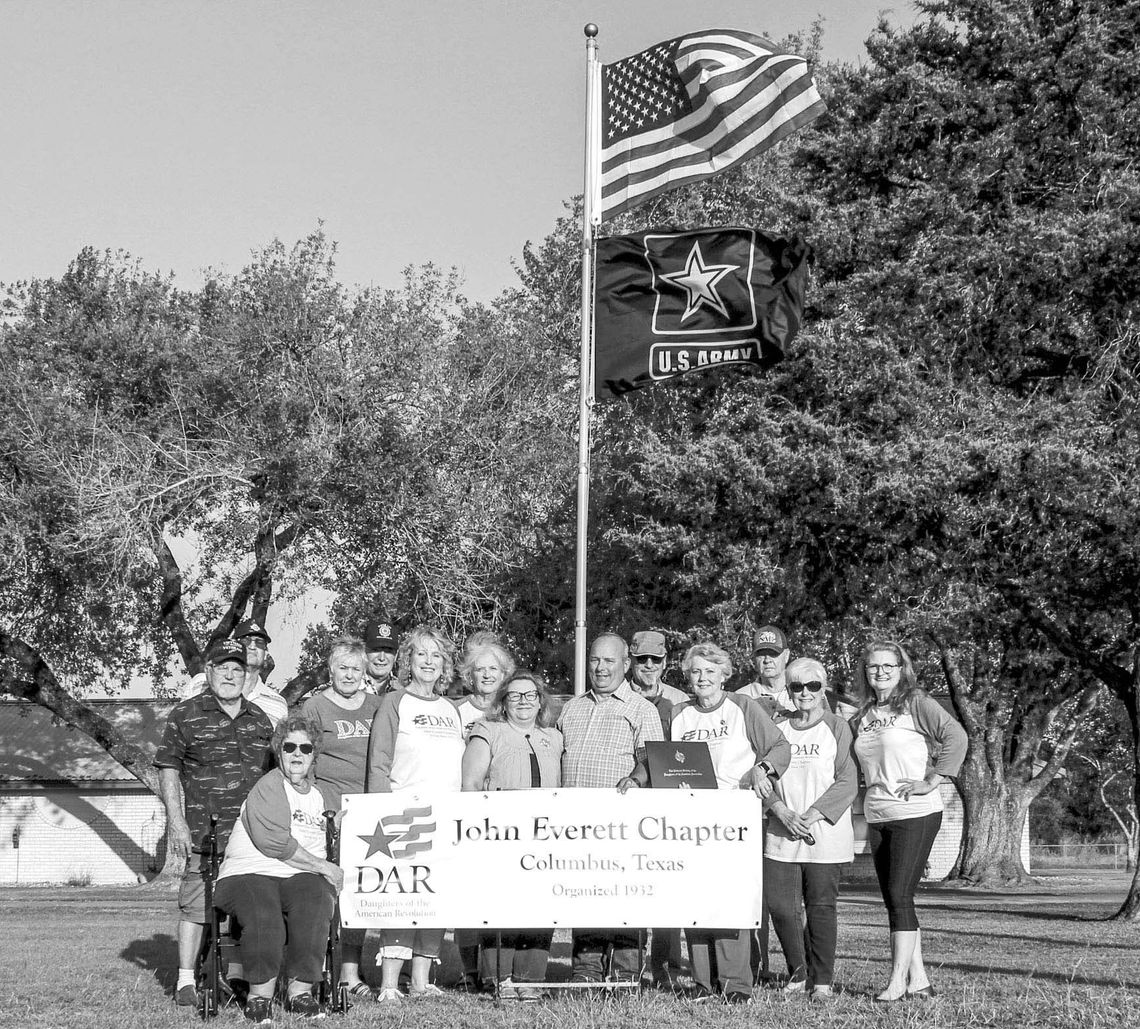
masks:
[[[562,733],[562,785],[587,789],[644,786],[645,744],[663,740],[657,709],[637,696],[626,675],[629,648],[612,632],[598,636],[587,662],[591,689],[562,708],[557,728]],[[614,929],[573,932],[575,982],[601,982],[605,949],[613,947],[611,971],[618,979],[636,979],[640,969],[637,937]]]

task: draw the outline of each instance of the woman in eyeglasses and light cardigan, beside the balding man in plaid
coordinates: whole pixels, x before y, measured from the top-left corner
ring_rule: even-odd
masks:
[[[543,677],[516,671],[495,694],[487,714],[467,734],[463,754],[463,789],[555,790],[562,785],[562,734]],[[496,954],[496,933],[483,933],[483,989],[510,990],[520,1001],[542,998],[551,956],[549,929],[508,930]],[[497,970],[497,971],[496,971]],[[496,975],[500,977],[496,980]]]

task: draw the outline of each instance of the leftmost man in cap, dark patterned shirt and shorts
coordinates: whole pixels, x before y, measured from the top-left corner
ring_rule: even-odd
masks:
[[[206,653],[206,689],[170,712],[154,763],[166,808],[166,846],[188,859],[178,891],[178,985],[180,1006],[197,1004],[194,962],[202,946],[205,909],[203,873],[209,860],[210,817],[218,820],[225,850],[242,802],[271,765],[272,725],[243,695],[245,647],[222,639]]]

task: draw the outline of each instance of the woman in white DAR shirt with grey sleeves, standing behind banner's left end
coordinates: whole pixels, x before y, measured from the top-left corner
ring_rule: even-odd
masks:
[[[455,672],[451,642],[438,629],[418,626],[397,653],[400,689],[385,694],[372,722],[368,742],[368,791],[372,793],[458,792],[462,785],[463,725],[455,704],[442,694]],[[400,971],[410,958],[409,997],[442,990],[429,981],[443,944],[442,929],[385,929],[376,961],[377,1002],[396,1004]]]

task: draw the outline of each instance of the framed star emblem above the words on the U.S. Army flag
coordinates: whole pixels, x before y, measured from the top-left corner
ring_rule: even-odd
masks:
[[[756,232],[706,229],[644,237],[654,295],[654,336],[702,336],[756,328]]]

